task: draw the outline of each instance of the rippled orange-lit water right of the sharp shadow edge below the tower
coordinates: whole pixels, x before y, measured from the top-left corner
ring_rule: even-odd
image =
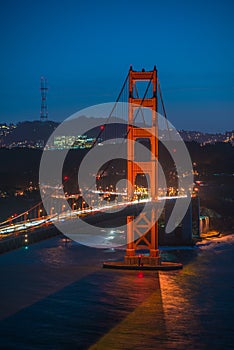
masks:
[[[232,349],[234,235],[199,246],[183,270],[160,272],[169,348]]]

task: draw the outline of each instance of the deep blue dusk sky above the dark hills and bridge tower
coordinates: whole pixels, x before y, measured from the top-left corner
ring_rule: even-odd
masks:
[[[132,64],[157,65],[178,129],[225,131],[234,116],[233,0],[1,1],[0,121],[63,120],[114,101]]]

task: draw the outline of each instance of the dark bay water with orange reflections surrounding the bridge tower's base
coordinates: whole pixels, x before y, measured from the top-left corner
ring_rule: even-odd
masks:
[[[1,349],[233,349],[234,236],[164,252],[181,271],[53,238],[0,256]]]

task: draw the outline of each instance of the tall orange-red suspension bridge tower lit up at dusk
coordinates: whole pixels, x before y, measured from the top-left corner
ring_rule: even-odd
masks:
[[[134,94],[137,82],[148,82],[150,87],[150,98],[146,94],[139,98]],[[148,88],[147,88],[148,89]],[[158,250],[158,221],[157,221],[157,201],[158,201],[158,121],[157,121],[157,70],[153,71],[133,71],[129,70],[129,109],[128,109],[128,196],[133,198],[134,185],[138,174],[148,176],[152,207],[149,215],[140,214],[138,217],[128,216],[127,249],[125,264],[136,265],[139,262],[137,250],[144,247],[149,250],[149,256],[142,257],[142,263],[149,265],[159,265]],[[146,128],[134,126],[136,111],[147,107],[151,109],[151,125]],[[147,139],[151,150],[151,159],[134,163],[136,154],[134,143],[139,139]],[[135,220],[134,220],[135,219]]]

